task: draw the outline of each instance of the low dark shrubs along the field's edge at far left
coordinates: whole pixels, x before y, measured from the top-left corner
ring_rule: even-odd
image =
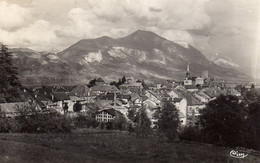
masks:
[[[0,132],[57,133],[70,132],[70,119],[58,113],[37,110],[35,105],[17,106],[18,116],[0,117]]]

